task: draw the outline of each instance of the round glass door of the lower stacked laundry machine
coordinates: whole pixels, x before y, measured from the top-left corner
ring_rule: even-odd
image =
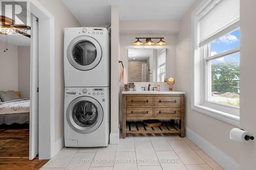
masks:
[[[66,113],[69,126],[79,133],[91,133],[103,120],[103,109],[98,101],[82,96],[73,100]]]

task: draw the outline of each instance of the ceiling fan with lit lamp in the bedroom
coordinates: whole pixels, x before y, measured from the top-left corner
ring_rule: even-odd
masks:
[[[30,38],[30,35],[26,33],[26,30],[30,29],[29,26],[14,25],[14,21],[11,18],[0,16],[0,34],[10,35],[18,33]]]

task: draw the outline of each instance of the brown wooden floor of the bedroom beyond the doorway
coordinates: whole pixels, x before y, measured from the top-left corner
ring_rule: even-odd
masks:
[[[29,160],[29,125],[0,126],[0,169],[39,169],[48,160]]]

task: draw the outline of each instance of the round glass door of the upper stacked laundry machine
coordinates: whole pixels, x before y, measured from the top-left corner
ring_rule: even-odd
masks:
[[[102,50],[94,38],[80,36],[73,39],[67,51],[70,64],[79,70],[90,70],[96,67],[101,60]]]

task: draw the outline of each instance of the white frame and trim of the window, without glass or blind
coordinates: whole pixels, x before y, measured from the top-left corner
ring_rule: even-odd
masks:
[[[206,58],[205,56],[209,56],[208,54],[210,53],[209,44],[204,45],[201,48],[199,47],[200,13],[210,2],[211,0],[203,1],[191,14],[191,108],[197,112],[204,113],[229,124],[239,126],[239,108],[206,101],[208,88],[208,83],[206,82],[207,61],[239,52],[239,48],[235,48],[225,53]],[[219,38],[228,32],[236,30],[237,28],[239,28],[239,21],[217,33],[215,38]]]

